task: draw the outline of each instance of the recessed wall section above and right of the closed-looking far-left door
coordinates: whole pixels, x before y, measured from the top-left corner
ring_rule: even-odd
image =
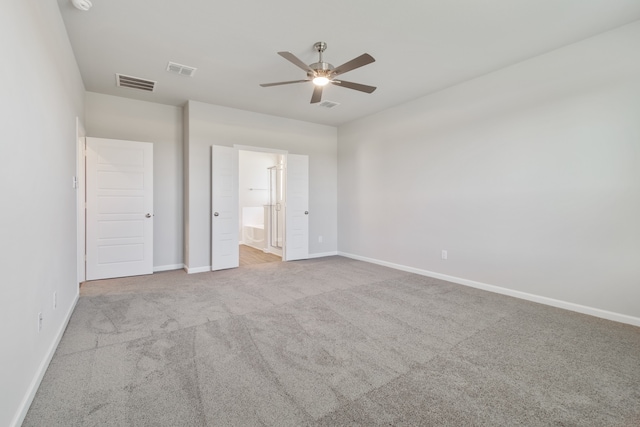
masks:
[[[86,128],[87,136],[153,143],[153,267],[182,268],[182,108],[87,92]]]

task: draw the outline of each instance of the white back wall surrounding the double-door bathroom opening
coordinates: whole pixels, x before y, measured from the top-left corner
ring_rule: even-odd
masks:
[[[309,253],[337,250],[337,130],[189,101],[186,219],[189,271],[211,265],[211,146],[234,144],[309,156]],[[318,236],[323,236],[323,243]]]

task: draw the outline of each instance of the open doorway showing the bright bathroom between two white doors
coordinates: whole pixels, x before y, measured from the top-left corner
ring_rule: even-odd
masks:
[[[240,266],[282,261],[286,155],[238,151]]]

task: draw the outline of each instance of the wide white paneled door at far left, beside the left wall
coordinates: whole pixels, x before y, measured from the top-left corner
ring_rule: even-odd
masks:
[[[87,280],[153,273],[153,144],[86,145]]]

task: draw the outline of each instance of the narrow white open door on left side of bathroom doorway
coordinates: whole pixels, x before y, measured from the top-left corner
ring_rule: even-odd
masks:
[[[211,149],[211,270],[240,265],[238,247],[238,150]]]

